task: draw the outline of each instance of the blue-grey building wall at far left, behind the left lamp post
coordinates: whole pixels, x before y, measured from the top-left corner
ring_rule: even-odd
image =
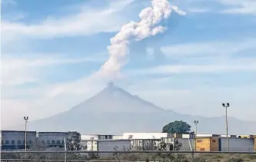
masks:
[[[36,132],[27,131],[27,147],[35,144]],[[25,149],[25,131],[1,131],[2,150]]]

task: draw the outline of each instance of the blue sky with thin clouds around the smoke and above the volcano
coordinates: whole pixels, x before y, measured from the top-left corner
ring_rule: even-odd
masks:
[[[104,88],[91,75],[148,0],[2,0],[2,127],[67,111]],[[255,120],[256,2],[173,0],[165,33],[133,41],[115,81],[182,114]],[[14,113],[15,112],[15,113]],[[242,113],[241,113],[242,112]],[[12,116],[12,117],[11,117]]]

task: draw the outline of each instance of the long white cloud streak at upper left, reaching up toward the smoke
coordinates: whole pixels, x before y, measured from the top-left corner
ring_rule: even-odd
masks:
[[[131,0],[118,1],[112,2],[106,8],[86,8],[76,15],[62,18],[48,17],[38,24],[2,21],[2,40],[10,41],[17,37],[55,38],[118,31],[126,21],[126,18],[119,14],[120,8],[125,8],[131,2]]]

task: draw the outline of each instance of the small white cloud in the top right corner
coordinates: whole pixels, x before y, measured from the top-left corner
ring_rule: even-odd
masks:
[[[229,6],[222,11],[223,13],[256,15],[255,0],[219,0],[219,2]]]

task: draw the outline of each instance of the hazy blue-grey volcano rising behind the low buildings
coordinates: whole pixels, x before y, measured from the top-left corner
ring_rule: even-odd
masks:
[[[200,117],[162,109],[119,88],[112,82],[69,111],[29,123],[36,131],[78,131],[81,134],[161,132],[171,121],[198,120],[200,134],[224,134],[225,117]],[[256,122],[228,118],[230,134],[256,134]],[[23,127],[23,125],[21,126]]]

